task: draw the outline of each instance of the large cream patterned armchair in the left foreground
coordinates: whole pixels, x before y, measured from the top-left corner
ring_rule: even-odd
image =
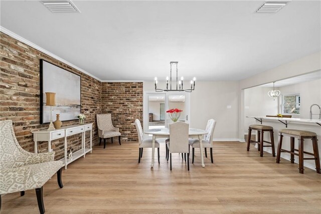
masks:
[[[34,154],[19,145],[11,120],[0,121],[0,207],[1,195],[36,189],[40,213],[45,212],[43,185],[57,172],[58,185],[63,187],[63,162],[54,161],[55,152]]]

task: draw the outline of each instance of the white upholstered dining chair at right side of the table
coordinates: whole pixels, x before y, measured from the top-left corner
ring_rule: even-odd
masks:
[[[211,153],[211,162],[213,163],[213,132],[216,125],[216,121],[214,119],[210,119],[207,122],[206,131],[208,134],[204,135],[202,139],[203,148],[205,149],[205,157],[207,157],[206,148],[210,148]],[[194,163],[194,150],[195,148],[200,148],[200,140],[199,139],[191,139],[189,140],[189,144],[192,147],[192,163]]]

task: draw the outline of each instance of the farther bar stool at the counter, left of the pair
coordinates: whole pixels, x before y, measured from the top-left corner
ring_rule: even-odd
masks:
[[[251,140],[252,130],[257,131],[257,141]],[[264,141],[264,132],[270,132],[271,142]],[[257,150],[260,151],[260,156],[263,157],[263,147],[272,147],[272,155],[275,157],[275,148],[274,148],[274,136],[273,136],[273,127],[263,126],[263,125],[250,125],[249,126],[249,135],[247,138],[247,151],[250,151],[250,143],[257,143]],[[269,143],[270,146],[264,146],[263,143]]]

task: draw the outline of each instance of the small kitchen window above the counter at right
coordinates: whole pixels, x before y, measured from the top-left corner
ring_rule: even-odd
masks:
[[[282,114],[300,114],[300,94],[283,95],[282,98]]]

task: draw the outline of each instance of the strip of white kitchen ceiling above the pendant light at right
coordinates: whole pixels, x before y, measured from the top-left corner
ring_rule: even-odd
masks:
[[[291,77],[291,78],[287,78],[287,79],[278,80],[274,83],[274,86],[275,87],[282,87],[282,86],[286,86],[286,85],[298,84],[301,82],[308,82],[308,81],[312,81],[312,80],[316,80],[316,79],[321,79],[321,70],[315,71],[312,73],[308,73],[308,74],[304,74],[304,75],[300,75],[300,76],[295,76],[295,77]],[[264,85],[260,85],[258,87],[273,87],[273,82],[270,82],[270,83],[267,83]]]

